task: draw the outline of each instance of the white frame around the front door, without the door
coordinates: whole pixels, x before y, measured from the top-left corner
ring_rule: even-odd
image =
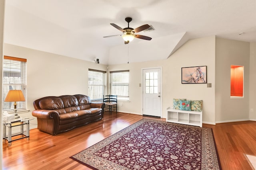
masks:
[[[160,68],[160,73],[161,73],[161,80],[160,80],[160,87],[161,87],[161,92],[160,92],[160,118],[163,117],[163,114],[162,114],[162,105],[163,105],[163,102],[162,102],[162,67],[146,67],[146,68],[141,68],[141,115],[143,115],[143,70],[148,70],[148,69],[155,69],[155,68]]]

